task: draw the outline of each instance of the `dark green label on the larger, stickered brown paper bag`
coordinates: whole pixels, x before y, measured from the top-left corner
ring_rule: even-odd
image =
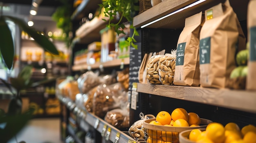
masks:
[[[199,47],[200,64],[209,64],[211,52],[211,37],[201,39]]]

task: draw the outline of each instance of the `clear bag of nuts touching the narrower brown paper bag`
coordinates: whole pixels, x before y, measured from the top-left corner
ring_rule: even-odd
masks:
[[[165,54],[159,59],[159,81],[163,85],[173,85],[176,65],[176,53]]]

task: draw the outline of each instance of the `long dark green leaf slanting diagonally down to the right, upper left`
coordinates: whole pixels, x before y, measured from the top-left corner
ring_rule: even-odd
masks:
[[[11,16],[2,16],[5,19],[9,19],[16,24],[18,24],[28,35],[30,35],[32,38],[34,38],[35,42],[43,47],[45,50],[49,51],[50,53],[54,55],[58,55],[58,50],[54,46],[54,44],[45,36],[37,33],[36,30],[31,29],[24,20],[21,20],[19,18],[11,17]]]

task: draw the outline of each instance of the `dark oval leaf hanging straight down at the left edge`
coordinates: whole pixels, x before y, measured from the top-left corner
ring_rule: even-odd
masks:
[[[0,50],[7,68],[12,68],[14,44],[11,31],[3,16],[0,17]]]

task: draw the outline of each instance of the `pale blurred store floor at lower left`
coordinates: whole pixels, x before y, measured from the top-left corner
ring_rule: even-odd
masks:
[[[26,143],[62,143],[60,137],[60,119],[43,118],[32,119],[17,136],[18,142]],[[8,143],[16,143],[12,139]]]

